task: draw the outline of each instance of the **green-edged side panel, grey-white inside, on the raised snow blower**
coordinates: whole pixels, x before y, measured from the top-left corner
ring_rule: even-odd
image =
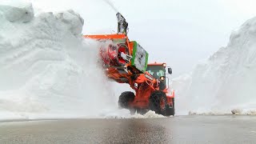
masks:
[[[131,65],[136,67],[142,73],[145,73],[149,54],[138,44],[134,42],[133,58],[131,59]]]

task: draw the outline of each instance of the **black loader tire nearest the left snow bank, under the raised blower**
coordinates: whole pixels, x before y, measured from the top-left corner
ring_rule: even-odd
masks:
[[[129,102],[134,102],[135,95],[131,91],[122,92],[118,99],[118,106],[122,109],[129,109]],[[136,110],[135,110],[136,111]]]

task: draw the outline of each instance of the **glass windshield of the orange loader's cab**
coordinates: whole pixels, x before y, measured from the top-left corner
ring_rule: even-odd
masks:
[[[154,78],[160,78],[165,76],[165,68],[163,66],[147,66],[146,71],[150,73]]]

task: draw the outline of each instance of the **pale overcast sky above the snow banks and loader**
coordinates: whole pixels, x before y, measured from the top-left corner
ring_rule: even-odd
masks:
[[[84,34],[117,31],[116,11],[104,0],[30,0],[42,10],[73,9]],[[232,30],[256,16],[254,0],[110,0],[129,22],[129,38],[167,62],[174,77],[226,46]]]

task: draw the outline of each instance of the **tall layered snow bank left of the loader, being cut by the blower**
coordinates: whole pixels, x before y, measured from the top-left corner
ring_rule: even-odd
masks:
[[[0,119],[91,117],[117,107],[79,14],[33,11],[0,2]]]

